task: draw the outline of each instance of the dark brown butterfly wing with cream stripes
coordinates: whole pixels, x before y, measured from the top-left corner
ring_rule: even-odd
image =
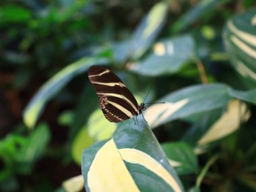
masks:
[[[88,77],[108,121],[117,123],[139,115],[139,105],[133,94],[110,69],[94,65],[88,70]]]

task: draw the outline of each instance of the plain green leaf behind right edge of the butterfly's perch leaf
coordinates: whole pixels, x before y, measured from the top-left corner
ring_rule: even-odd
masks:
[[[185,142],[162,143],[161,144],[166,156],[170,162],[179,162],[174,166],[178,174],[195,173],[198,170],[197,156],[193,152],[193,148]]]

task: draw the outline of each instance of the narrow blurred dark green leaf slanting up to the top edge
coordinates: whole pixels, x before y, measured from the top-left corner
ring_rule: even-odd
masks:
[[[199,19],[203,14],[214,11],[214,7],[230,0],[202,0],[185,13],[177,22],[172,25],[172,32],[177,33],[186,30],[195,20]]]

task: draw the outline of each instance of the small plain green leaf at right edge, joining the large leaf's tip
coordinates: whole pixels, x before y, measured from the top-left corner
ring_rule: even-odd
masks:
[[[230,96],[232,96],[234,98],[238,98],[240,100],[244,100],[244,101],[256,104],[256,89],[249,90],[247,92],[238,91],[238,90],[234,90],[234,89],[230,89],[228,91],[229,91]]]

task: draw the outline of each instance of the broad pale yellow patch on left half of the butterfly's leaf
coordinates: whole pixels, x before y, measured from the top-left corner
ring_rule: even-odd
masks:
[[[91,192],[139,191],[113,139],[107,141],[104,146],[98,150],[87,176],[88,187]]]

